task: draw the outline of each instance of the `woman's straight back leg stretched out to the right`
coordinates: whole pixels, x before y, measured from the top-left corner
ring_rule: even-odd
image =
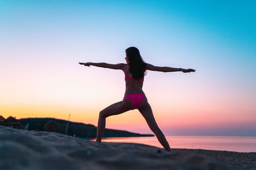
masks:
[[[161,145],[163,145],[164,149],[170,152],[170,145],[166,140],[163,132],[159,129],[158,125],[156,124],[156,120],[154,118],[150,105],[146,103],[145,106],[139,108],[139,111],[147,121],[147,124],[150,127],[151,131],[154,132],[154,134],[156,134],[158,141],[161,143]]]

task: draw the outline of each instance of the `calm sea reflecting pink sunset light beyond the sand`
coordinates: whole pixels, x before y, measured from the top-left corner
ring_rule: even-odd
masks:
[[[256,152],[256,137],[238,136],[166,136],[171,148]],[[93,139],[92,141],[95,141]],[[142,143],[163,148],[156,136],[102,138],[104,142]]]

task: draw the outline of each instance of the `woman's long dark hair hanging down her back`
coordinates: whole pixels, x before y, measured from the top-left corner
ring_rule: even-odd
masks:
[[[138,48],[131,46],[125,50],[129,60],[129,71],[132,78],[139,79],[144,77],[147,64],[143,61]]]

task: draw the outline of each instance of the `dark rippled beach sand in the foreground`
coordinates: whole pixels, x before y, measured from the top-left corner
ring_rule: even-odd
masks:
[[[256,169],[256,153],[95,143],[0,126],[0,169]]]

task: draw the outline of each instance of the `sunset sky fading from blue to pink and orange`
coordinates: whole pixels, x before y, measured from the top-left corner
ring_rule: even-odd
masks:
[[[154,66],[143,90],[166,135],[256,136],[255,1],[0,1],[0,115],[97,125],[122,101],[124,73],[78,62]],[[152,134],[138,110],[106,128]]]

